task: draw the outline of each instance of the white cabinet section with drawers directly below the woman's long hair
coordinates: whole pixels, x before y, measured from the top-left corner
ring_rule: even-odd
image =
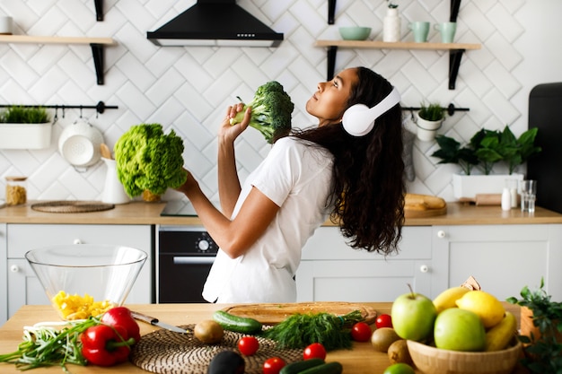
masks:
[[[400,253],[384,257],[347,246],[337,227],[321,227],[303,248],[298,301],[393,301],[408,291],[431,295],[431,226],[404,227]]]

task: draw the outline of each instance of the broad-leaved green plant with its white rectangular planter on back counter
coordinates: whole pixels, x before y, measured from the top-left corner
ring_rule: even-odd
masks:
[[[522,180],[517,167],[529,157],[541,151],[534,144],[538,129],[531,128],[519,138],[509,126],[504,131],[480,129],[470,138],[470,143],[461,144],[451,137],[438,135],[435,141],[440,149],[432,156],[440,158],[438,163],[456,163],[462,172],[452,175],[453,196],[458,199],[474,199],[477,194],[500,194],[506,179]],[[496,164],[503,163],[508,173],[494,174]]]

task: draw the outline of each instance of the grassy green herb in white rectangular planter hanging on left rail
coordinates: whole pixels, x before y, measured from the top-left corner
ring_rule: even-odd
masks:
[[[51,130],[50,116],[42,107],[13,105],[0,112],[0,148],[48,148]]]

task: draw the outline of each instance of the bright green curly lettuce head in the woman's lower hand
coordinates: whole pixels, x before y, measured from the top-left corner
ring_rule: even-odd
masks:
[[[162,195],[168,187],[180,187],[187,179],[183,170],[183,140],[173,130],[164,135],[160,124],[131,126],[114,147],[117,176],[130,197],[148,190]]]

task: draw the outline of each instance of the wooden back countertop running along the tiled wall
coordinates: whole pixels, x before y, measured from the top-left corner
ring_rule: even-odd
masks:
[[[161,224],[199,225],[197,217],[162,217],[165,203],[136,201],[115,205],[114,209],[92,213],[43,213],[31,209],[31,204],[0,208],[0,223],[53,223],[53,224]],[[535,213],[520,209],[508,212],[499,206],[476,206],[448,203],[447,213],[435,217],[408,218],[407,226],[474,225],[474,224],[536,224],[562,223],[562,214],[537,207]],[[334,226],[326,222],[327,226]]]

